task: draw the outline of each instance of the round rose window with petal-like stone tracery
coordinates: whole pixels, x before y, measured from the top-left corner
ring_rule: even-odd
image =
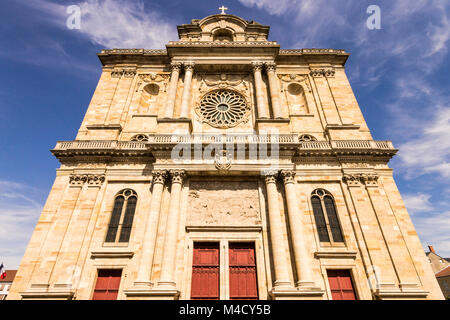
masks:
[[[231,90],[216,90],[203,96],[198,111],[212,126],[229,128],[237,125],[247,114],[245,98]]]

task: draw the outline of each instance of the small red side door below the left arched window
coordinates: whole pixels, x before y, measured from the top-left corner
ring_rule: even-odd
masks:
[[[92,300],[117,300],[121,276],[122,269],[98,270],[97,283]]]

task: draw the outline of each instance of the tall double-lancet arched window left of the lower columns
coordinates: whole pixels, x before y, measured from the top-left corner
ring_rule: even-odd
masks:
[[[128,242],[136,211],[137,195],[131,189],[120,191],[114,200],[105,242]]]

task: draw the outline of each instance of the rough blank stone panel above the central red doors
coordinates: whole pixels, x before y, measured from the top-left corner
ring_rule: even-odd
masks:
[[[192,181],[188,201],[189,226],[261,225],[256,181]]]

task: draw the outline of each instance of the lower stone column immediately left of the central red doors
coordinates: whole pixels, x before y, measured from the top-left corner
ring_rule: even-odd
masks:
[[[167,217],[166,236],[164,238],[161,278],[158,286],[175,289],[175,263],[177,254],[178,220],[180,215],[181,185],[186,176],[184,170],[170,170],[172,190],[170,193],[169,215]]]

